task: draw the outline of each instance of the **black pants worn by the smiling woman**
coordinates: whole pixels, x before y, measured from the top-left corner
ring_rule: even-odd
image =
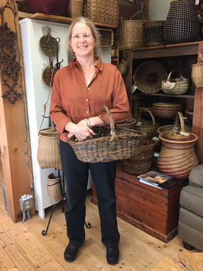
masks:
[[[72,147],[60,140],[60,158],[67,182],[67,236],[72,246],[79,247],[84,242],[85,199],[88,183],[88,169],[91,171],[101,222],[101,241],[107,248],[119,243],[117,228],[115,176],[117,162],[84,163],[77,159]]]

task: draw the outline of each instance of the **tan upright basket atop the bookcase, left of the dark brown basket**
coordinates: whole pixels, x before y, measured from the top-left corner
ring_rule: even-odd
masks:
[[[143,24],[144,20],[121,20],[117,28],[118,50],[140,48],[145,44]]]

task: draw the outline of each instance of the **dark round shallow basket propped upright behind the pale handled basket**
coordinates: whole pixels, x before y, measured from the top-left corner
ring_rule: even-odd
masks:
[[[161,82],[167,78],[165,67],[157,61],[146,61],[137,67],[134,73],[134,85],[146,94],[161,89]]]

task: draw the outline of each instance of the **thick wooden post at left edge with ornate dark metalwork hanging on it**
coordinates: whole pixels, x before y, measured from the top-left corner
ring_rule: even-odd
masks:
[[[5,5],[8,6],[8,8],[3,9]],[[19,62],[22,67],[21,71],[17,74],[18,85],[14,87],[14,90],[22,94],[22,98],[18,98],[14,104],[10,104],[6,98],[1,98],[1,96],[5,94],[5,91],[8,91],[5,80],[6,83],[11,86],[14,83],[14,77],[8,77],[3,73],[4,79],[2,77],[0,79],[0,147],[3,180],[5,183],[8,215],[12,221],[18,222],[22,220],[22,212],[19,206],[21,195],[33,195],[32,161],[29,160],[30,144],[23,61],[22,57],[19,58],[19,54],[21,54],[19,17],[16,14],[14,16],[13,10],[17,12],[15,1],[1,0],[0,8],[3,10],[3,17],[1,17],[0,23],[7,23],[10,31],[17,34],[16,47],[19,48],[19,50],[16,50],[16,62]],[[4,49],[7,54],[10,54],[8,48]],[[3,58],[3,56],[1,56],[1,58]],[[1,70],[3,65],[7,64],[8,63],[3,64],[1,62]],[[34,214],[34,207],[30,210],[30,214]]]

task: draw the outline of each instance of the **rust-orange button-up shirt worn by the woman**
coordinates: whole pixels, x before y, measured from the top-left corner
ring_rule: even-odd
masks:
[[[115,123],[130,116],[126,87],[117,67],[103,63],[98,57],[95,70],[88,87],[76,59],[54,76],[49,114],[64,142],[67,142],[69,134],[64,131],[68,122],[77,124],[85,118],[98,116],[109,124],[106,111],[99,112],[103,105],[110,109]]]

